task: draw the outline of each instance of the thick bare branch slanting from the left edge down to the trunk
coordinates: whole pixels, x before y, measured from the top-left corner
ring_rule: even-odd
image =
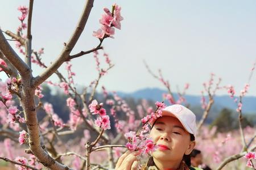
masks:
[[[21,75],[30,72],[30,68],[26,65],[26,63],[24,63],[24,61],[18,56],[18,54],[16,54],[13,48],[11,48],[9,42],[7,42],[7,40],[5,39],[2,31],[0,31],[0,50]]]

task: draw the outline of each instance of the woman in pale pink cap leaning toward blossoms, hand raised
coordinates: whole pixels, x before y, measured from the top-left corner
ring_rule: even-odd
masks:
[[[144,170],[189,170],[190,153],[196,145],[196,116],[183,105],[175,104],[163,109],[162,117],[151,121],[150,137],[158,148],[152,152]],[[139,151],[127,151],[115,167],[116,170],[138,169]]]

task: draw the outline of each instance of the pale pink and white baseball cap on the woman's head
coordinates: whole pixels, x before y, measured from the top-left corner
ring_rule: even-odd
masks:
[[[188,108],[180,104],[170,105],[163,109],[162,115],[176,117],[188,133],[196,136],[196,115]],[[151,122],[151,124],[154,124],[154,122]]]

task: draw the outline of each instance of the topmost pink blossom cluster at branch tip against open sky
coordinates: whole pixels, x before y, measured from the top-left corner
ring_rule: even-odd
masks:
[[[105,14],[102,14],[100,23],[101,28],[97,31],[93,31],[93,36],[98,39],[104,39],[105,37],[113,37],[115,33],[115,28],[121,29],[121,7],[114,4],[112,6],[112,11],[110,12],[108,8],[104,8]]]

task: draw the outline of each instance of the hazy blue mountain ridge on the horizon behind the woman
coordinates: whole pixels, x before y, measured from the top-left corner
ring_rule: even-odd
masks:
[[[138,90],[131,93],[125,92],[117,92],[117,94],[121,97],[133,97],[134,99],[147,99],[153,101],[161,101],[163,100],[162,95],[167,93],[167,91],[161,90],[159,88],[144,88],[142,90]],[[174,93],[175,99],[178,98],[177,94]],[[200,106],[201,96],[196,95],[185,95],[185,99],[187,103],[191,105],[191,107],[198,107]],[[243,113],[256,113],[256,97],[254,96],[245,96],[242,99]],[[215,96],[214,97],[214,108],[217,108],[219,111],[222,108],[229,108],[232,110],[236,110],[236,103],[228,96]]]

